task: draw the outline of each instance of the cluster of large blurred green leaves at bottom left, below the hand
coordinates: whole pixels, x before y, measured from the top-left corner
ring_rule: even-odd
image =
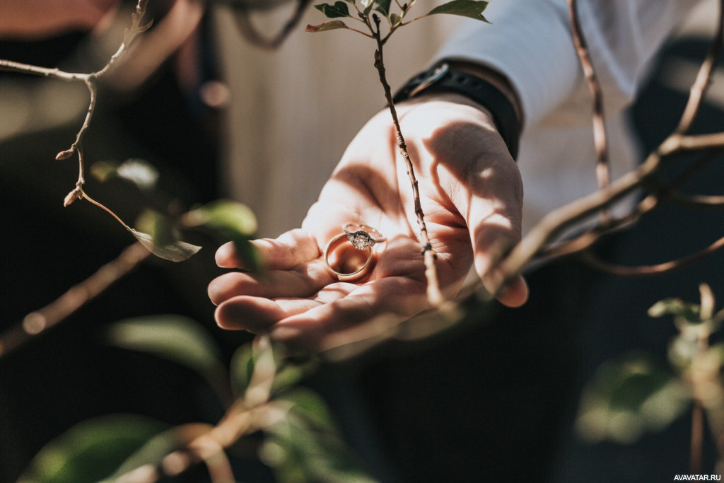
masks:
[[[374,481],[340,436],[324,400],[298,386],[316,367],[314,358],[282,358],[267,337],[257,337],[236,350],[227,371],[210,335],[193,320],[175,315],[122,320],[109,327],[106,340],[201,375],[222,393],[219,400],[227,414],[220,425],[248,421],[239,427],[240,437],[264,434],[258,458],[271,466],[279,482]],[[233,398],[228,397],[232,393]],[[46,445],[20,481],[114,481],[130,472],[148,476],[167,455],[188,449],[213,430],[213,425],[203,422],[169,427],[138,415],[90,419]],[[224,450],[233,454],[233,448]]]

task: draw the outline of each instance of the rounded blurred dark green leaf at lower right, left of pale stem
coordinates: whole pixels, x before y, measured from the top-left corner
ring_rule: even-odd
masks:
[[[667,427],[689,402],[686,386],[668,367],[631,355],[598,369],[581,397],[576,426],[586,440],[630,444]]]

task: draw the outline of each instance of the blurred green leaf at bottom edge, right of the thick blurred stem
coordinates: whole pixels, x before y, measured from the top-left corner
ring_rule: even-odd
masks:
[[[280,482],[355,482],[372,479],[346,445],[324,400],[297,388],[279,398],[291,408],[265,429],[261,458]]]

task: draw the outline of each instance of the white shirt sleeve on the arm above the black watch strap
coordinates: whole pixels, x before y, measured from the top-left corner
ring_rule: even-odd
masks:
[[[631,102],[658,49],[696,1],[578,0],[608,114]],[[585,87],[565,0],[492,0],[484,14],[492,24],[466,19],[437,57],[479,62],[506,75],[526,126]],[[583,114],[590,119],[590,112]]]

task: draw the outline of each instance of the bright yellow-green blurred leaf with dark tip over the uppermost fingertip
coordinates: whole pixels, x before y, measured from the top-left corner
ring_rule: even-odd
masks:
[[[205,227],[224,240],[234,243],[237,255],[245,268],[258,270],[261,261],[249,238],[256,232],[256,217],[248,206],[236,201],[218,200],[185,214],[187,227]]]

